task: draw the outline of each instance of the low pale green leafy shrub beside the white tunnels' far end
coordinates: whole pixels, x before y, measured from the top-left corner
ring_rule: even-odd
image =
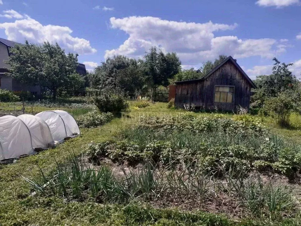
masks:
[[[80,127],[97,127],[101,126],[107,122],[110,122],[113,119],[113,114],[110,112],[99,113],[98,111],[90,111],[84,115],[80,115],[77,118],[77,124]]]

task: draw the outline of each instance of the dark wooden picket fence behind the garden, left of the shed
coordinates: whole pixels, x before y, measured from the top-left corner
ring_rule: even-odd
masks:
[[[136,99],[138,96],[147,96],[150,97],[150,93],[141,93],[138,92],[105,92],[100,90],[86,90],[86,89],[73,89],[73,90],[65,90],[64,91],[67,96],[77,96],[77,97],[86,97],[86,98],[93,98],[96,96],[103,96],[105,94],[108,95],[122,95],[127,99]],[[154,101],[161,101],[161,102],[168,102],[169,96],[169,89],[155,89],[153,91],[153,100]]]

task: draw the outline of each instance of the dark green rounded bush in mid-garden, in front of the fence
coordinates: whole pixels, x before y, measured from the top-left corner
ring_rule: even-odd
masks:
[[[119,113],[129,104],[122,96],[103,95],[94,99],[94,103],[101,112]]]

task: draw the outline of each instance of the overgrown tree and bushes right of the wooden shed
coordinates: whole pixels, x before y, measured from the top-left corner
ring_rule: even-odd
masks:
[[[261,75],[254,81],[258,89],[251,97],[251,107],[261,108],[261,112],[272,115],[281,127],[290,127],[292,112],[300,112],[300,82],[288,70],[293,64],[285,64],[273,59],[271,75]]]

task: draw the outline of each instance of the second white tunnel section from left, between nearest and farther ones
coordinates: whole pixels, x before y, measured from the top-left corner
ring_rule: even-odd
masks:
[[[45,121],[35,115],[19,115],[29,129],[33,149],[47,149],[54,146],[54,140]]]

